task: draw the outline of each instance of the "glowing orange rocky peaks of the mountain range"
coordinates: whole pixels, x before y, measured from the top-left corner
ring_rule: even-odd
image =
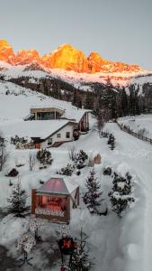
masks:
[[[0,61],[11,65],[26,65],[37,62],[41,67],[48,69],[74,70],[76,72],[139,72],[142,69],[138,65],[129,65],[123,62],[104,60],[98,52],[92,51],[88,57],[83,51],[76,50],[70,44],[58,46],[58,49],[40,56],[36,50],[21,50],[16,54],[11,45],[0,40]]]

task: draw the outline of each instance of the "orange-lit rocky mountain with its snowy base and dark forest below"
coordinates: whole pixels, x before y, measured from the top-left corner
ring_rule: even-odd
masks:
[[[0,79],[73,102],[77,107],[94,111],[108,107],[117,111],[117,116],[152,109],[152,71],[106,61],[96,52],[86,57],[69,44],[40,56],[35,50],[14,54],[8,42],[0,41]],[[122,89],[126,98],[121,95]],[[121,110],[124,107],[125,114]]]

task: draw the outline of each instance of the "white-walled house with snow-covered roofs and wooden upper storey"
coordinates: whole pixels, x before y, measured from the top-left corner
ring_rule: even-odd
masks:
[[[62,107],[59,107],[60,104]],[[51,99],[49,105],[42,101],[31,107],[24,121],[2,126],[2,131],[10,137],[18,135],[31,138],[35,148],[58,146],[78,139],[81,133],[89,130],[90,112],[74,107],[71,103]]]

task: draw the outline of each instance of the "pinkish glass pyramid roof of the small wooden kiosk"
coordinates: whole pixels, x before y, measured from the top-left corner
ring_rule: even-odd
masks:
[[[70,195],[77,187],[78,185],[73,180],[53,177],[40,186],[37,193]]]

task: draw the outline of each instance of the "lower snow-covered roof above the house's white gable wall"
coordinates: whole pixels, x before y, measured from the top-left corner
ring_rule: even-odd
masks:
[[[0,126],[0,130],[6,137],[19,135],[45,139],[68,123],[69,120],[67,119],[20,121],[16,123],[5,123]]]

